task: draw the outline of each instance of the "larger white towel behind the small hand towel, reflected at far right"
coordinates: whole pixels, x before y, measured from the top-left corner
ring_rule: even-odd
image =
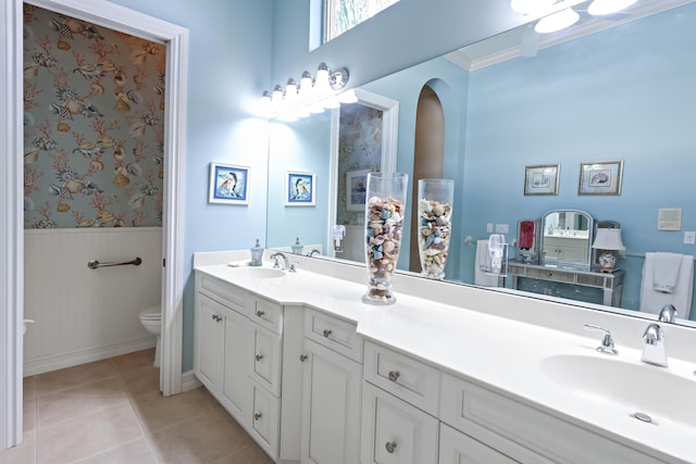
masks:
[[[680,318],[688,318],[694,293],[694,256],[678,254],[680,265],[676,283],[672,287],[672,292],[669,293],[656,290],[652,286],[657,254],[645,253],[639,309],[646,313],[659,314],[663,305],[673,304]]]

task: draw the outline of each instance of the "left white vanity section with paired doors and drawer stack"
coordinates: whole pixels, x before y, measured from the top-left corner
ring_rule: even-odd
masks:
[[[300,459],[302,310],[196,274],[194,372],[277,463]]]

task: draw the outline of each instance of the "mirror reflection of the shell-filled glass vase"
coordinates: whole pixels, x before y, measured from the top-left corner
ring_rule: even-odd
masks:
[[[427,278],[445,278],[453,198],[455,181],[451,179],[418,181],[418,250],[421,274]]]

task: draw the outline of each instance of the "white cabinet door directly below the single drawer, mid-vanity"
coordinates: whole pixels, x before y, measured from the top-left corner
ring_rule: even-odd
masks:
[[[302,463],[357,464],[361,365],[308,339],[304,348]]]

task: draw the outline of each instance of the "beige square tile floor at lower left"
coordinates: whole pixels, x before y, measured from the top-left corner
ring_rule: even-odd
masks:
[[[24,379],[24,443],[0,464],[270,464],[203,388],[164,398],[154,350]]]

